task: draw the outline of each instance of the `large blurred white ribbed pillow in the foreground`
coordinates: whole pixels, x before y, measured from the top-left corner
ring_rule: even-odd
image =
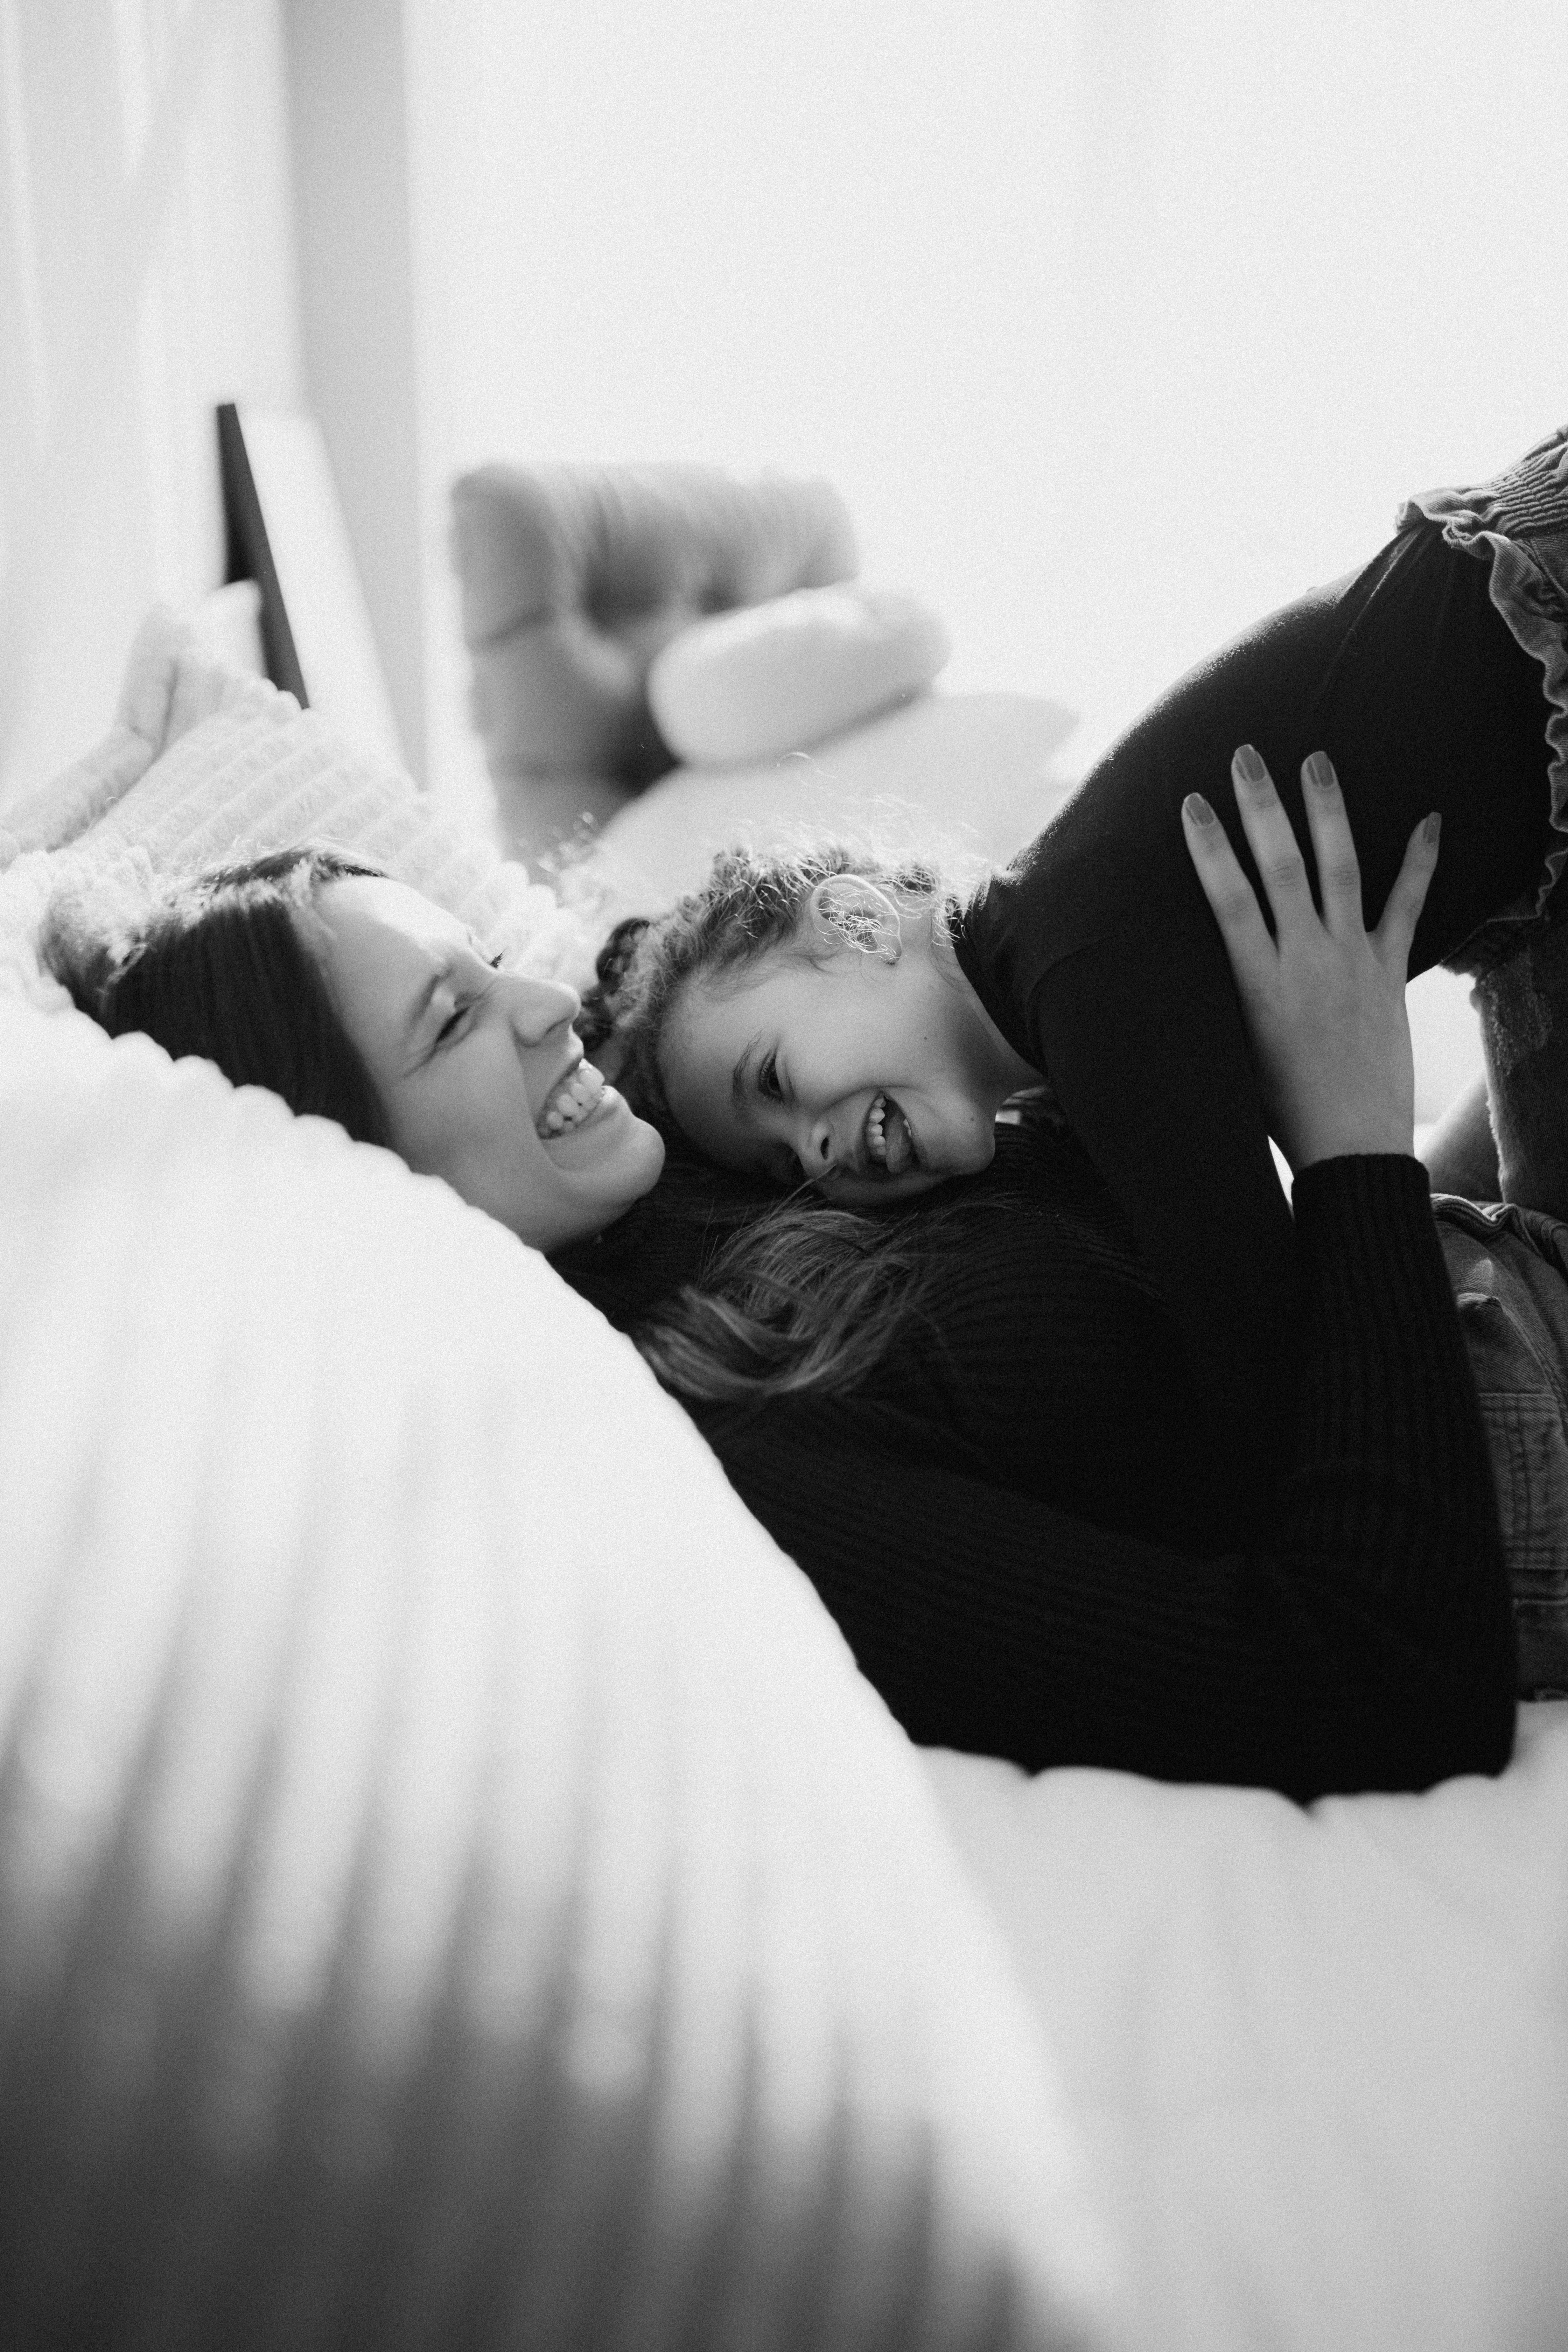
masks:
[[[0,2338],[1105,2343],[914,1752],[498,1225],[0,993]]]

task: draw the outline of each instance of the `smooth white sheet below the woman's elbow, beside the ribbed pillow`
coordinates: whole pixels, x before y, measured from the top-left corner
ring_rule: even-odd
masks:
[[[1161,2352],[1568,2343],[1568,1703],[1427,1797],[931,1755]]]

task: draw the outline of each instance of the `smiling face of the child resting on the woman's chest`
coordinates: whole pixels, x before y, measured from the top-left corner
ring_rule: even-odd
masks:
[[[990,1164],[997,1110],[1027,1082],[999,1047],[922,920],[896,964],[780,946],[686,981],[658,1068],[710,1160],[778,1185],[827,1178],[830,1200],[860,1207]]]

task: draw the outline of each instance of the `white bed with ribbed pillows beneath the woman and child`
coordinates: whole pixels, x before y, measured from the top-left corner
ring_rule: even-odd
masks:
[[[900,684],[562,894],[153,616],[0,811],[7,2345],[1568,2340],[1568,1703],[1305,1811],[919,1755],[543,1261],[35,957],[308,830],[576,974],[710,828],[990,851],[1065,729]]]

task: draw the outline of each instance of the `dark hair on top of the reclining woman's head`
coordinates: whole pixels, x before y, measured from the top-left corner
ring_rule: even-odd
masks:
[[[235,1087],[270,1087],[357,1143],[390,1143],[371,1075],[339,1021],[299,915],[329,882],[383,880],[336,849],[303,844],[174,882],[106,924],[89,896],[59,898],[40,957],[110,1037],[143,1030],[167,1054],[200,1054]]]

